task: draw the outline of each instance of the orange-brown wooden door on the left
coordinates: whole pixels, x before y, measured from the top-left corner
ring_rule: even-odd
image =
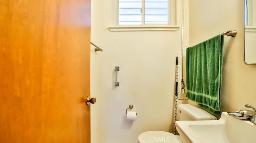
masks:
[[[1,0],[0,143],[90,143],[90,0]]]

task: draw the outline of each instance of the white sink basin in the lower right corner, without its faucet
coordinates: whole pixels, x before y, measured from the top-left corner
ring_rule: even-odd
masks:
[[[218,120],[176,121],[186,143],[256,143],[256,124],[222,112]]]

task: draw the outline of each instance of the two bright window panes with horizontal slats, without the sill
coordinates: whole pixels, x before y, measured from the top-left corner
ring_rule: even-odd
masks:
[[[119,0],[118,25],[170,25],[170,0]]]

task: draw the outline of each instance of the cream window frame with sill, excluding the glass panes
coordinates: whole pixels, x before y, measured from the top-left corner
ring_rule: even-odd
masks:
[[[168,24],[145,24],[144,8],[142,8],[142,25],[118,25],[119,0],[116,0],[116,26],[108,27],[110,31],[177,31],[180,26],[176,25],[176,0],[168,2]],[[145,0],[142,0],[144,7]]]

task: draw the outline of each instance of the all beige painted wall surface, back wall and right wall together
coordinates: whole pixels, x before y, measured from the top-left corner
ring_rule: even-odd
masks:
[[[184,47],[228,29],[238,31],[236,37],[224,38],[222,111],[256,106],[256,66],[243,62],[243,1],[189,0],[189,22],[188,0],[184,4]],[[91,106],[92,143],[135,143],[147,130],[173,132],[174,67],[181,53],[181,29],[110,32],[107,28],[116,25],[116,12],[116,0],[92,1],[91,40],[103,49],[95,53],[91,47],[91,96],[97,98]],[[119,87],[114,86],[115,66],[120,67]],[[130,104],[138,112],[134,122],[125,119]]]

